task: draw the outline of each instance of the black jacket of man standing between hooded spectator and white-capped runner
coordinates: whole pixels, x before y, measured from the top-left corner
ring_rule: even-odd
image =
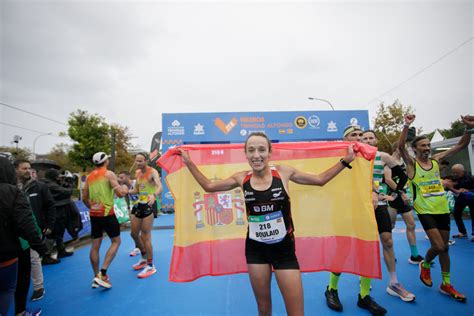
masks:
[[[49,192],[48,186],[43,182],[31,180],[23,186],[23,191],[28,196],[41,230],[44,231],[47,228],[53,230],[56,208],[54,207],[54,199],[51,192]]]

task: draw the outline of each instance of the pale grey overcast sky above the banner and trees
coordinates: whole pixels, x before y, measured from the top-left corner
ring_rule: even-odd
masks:
[[[400,99],[426,132],[474,113],[474,1],[3,0],[0,10],[0,102],[64,123],[97,113],[146,150],[162,113],[330,110],[309,96],[371,120]],[[3,105],[0,122],[3,146],[20,135],[32,148],[41,134],[26,129],[67,129]],[[38,138],[36,152],[60,142]]]

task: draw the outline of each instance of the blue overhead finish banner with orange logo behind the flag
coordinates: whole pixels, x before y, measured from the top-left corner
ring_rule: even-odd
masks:
[[[276,143],[341,140],[348,125],[368,129],[368,111],[164,113],[162,147],[164,154],[183,144],[243,143],[252,132],[264,132]],[[173,196],[162,184],[162,208],[174,209]]]

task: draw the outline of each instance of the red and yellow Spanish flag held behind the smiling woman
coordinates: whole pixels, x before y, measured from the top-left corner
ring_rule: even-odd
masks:
[[[347,142],[273,144],[270,163],[321,173],[347,153]],[[209,179],[249,170],[243,144],[184,145]],[[371,203],[376,148],[354,144],[352,169],[344,169],[323,187],[290,182],[289,195],[302,272],[348,272],[381,278],[377,223]],[[205,192],[182,162],[177,149],[158,164],[175,199],[175,240],[170,281],[205,275],[247,272],[247,218],[241,188]]]

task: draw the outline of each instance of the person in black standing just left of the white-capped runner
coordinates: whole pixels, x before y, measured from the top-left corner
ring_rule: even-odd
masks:
[[[64,187],[61,174],[56,169],[49,169],[46,171],[45,178],[42,180],[49,188],[54,199],[54,206],[56,207],[56,220],[50,240],[56,240],[56,247],[58,248],[58,258],[69,257],[73,252],[67,251],[64,246],[64,232],[66,230],[66,213],[71,207],[72,188]]]

